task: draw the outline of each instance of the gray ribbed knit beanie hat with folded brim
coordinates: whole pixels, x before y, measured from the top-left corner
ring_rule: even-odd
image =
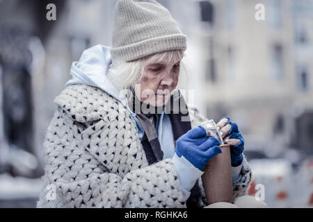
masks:
[[[163,51],[186,50],[186,35],[170,12],[154,0],[118,0],[112,60],[130,62]]]

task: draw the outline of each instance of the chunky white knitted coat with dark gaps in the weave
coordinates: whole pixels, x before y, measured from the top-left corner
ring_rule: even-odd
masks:
[[[172,160],[148,165],[122,103],[88,85],[71,85],[54,102],[38,207],[186,207]],[[195,127],[205,119],[192,109]],[[246,194],[250,184],[246,160],[241,176],[233,185],[235,197]],[[204,207],[201,192],[198,203]]]

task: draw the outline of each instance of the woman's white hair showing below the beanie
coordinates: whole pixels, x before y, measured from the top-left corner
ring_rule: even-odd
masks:
[[[151,62],[178,62],[184,57],[183,50],[171,50],[155,53],[131,62],[113,61],[108,71],[108,78],[119,90],[134,88],[134,85],[141,83],[141,78],[145,73],[145,67]],[[184,85],[183,79],[186,78],[186,67],[184,62],[180,62],[179,80],[176,89]]]

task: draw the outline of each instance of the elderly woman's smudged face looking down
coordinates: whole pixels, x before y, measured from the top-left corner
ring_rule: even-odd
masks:
[[[180,60],[147,64],[140,85],[135,87],[137,98],[155,107],[165,105],[177,86],[179,67]]]

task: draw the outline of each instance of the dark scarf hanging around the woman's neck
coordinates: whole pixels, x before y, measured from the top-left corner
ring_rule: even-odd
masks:
[[[180,92],[179,92],[180,93]],[[174,95],[170,96],[168,103],[161,107],[153,107],[152,105],[143,104],[143,102],[137,99],[137,96],[134,94],[133,90],[133,106],[132,110],[136,114],[136,117],[141,122],[143,126],[144,135],[141,140],[143,145],[143,150],[147,157],[147,162],[149,165],[154,164],[163,160],[163,151],[161,150],[161,144],[157,135],[157,121],[159,118],[158,114],[163,112],[165,108],[166,114],[170,117],[170,123],[172,124],[172,133],[174,137],[174,144],[176,146],[176,141],[179,137],[184,135],[188,130],[191,129],[191,121],[188,114],[188,108],[186,102],[184,101],[183,96],[179,96],[179,99],[174,99]],[[142,113],[142,107],[145,107],[149,110],[147,113]],[[154,124],[150,121],[150,118],[154,118]],[[182,121],[184,118],[184,121]],[[191,196],[188,198],[186,204],[187,207],[195,207],[194,203],[195,196],[200,196],[200,187],[198,182],[195,183],[195,186],[191,189]]]

